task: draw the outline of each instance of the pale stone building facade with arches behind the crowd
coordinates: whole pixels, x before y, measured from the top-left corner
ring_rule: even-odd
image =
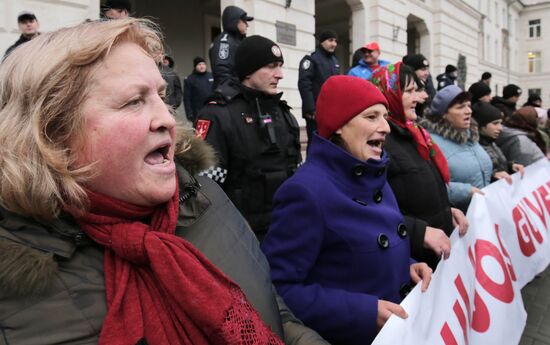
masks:
[[[540,92],[550,106],[550,1],[529,0],[131,0],[135,16],[156,18],[165,33],[167,51],[181,77],[191,72],[195,56],[207,56],[220,30],[221,10],[245,9],[255,20],[249,34],[276,40],[285,56],[285,99],[300,114],[298,64],[315,49],[315,33],[339,34],[337,56],[346,71],[351,54],[369,41],[378,41],[381,58],[397,61],[420,52],[435,77],[445,65],[466,59],[468,87],[483,72],[493,74],[493,94],[515,83]],[[100,0],[0,0],[0,51],[18,37],[16,17],[22,10],[36,13],[42,31],[99,16]],[[537,22],[538,20],[538,22]],[[538,23],[538,24],[537,24]],[[537,29],[538,25],[538,29]],[[538,31],[537,31],[538,30]],[[546,34],[545,34],[546,33]]]

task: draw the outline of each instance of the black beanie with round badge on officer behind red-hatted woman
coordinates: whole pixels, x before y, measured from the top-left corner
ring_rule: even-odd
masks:
[[[281,48],[263,36],[254,35],[245,38],[235,53],[235,73],[239,80],[253,74],[260,68],[273,62],[284,63]]]

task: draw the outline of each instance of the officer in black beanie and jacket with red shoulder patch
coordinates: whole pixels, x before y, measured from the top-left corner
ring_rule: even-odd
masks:
[[[203,175],[222,186],[260,240],[275,191],[302,160],[298,122],[277,89],[283,62],[273,41],[244,39],[235,54],[240,82],[216,89],[195,124],[219,157]]]

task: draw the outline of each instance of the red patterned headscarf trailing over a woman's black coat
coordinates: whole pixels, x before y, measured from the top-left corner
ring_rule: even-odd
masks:
[[[407,129],[416,144],[416,150],[424,160],[431,159],[443,181],[449,183],[450,173],[447,159],[439,149],[436,143],[433,142],[430,134],[422,126],[414,121],[407,120],[405,110],[403,109],[403,91],[399,83],[399,71],[402,63],[390,64],[375,70],[371,76],[371,82],[376,85],[382,94],[386,97],[389,103],[388,119],[395,125]]]

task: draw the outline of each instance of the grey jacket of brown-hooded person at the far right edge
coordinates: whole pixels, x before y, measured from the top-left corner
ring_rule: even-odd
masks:
[[[508,161],[514,161],[525,166],[545,157],[525,130],[504,126],[496,143]]]

